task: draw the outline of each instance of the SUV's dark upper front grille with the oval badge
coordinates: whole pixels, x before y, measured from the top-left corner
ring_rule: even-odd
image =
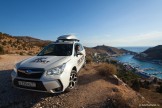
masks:
[[[18,77],[39,79],[44,73],[44,69],[41,68],[19,68],[17,70]]]

